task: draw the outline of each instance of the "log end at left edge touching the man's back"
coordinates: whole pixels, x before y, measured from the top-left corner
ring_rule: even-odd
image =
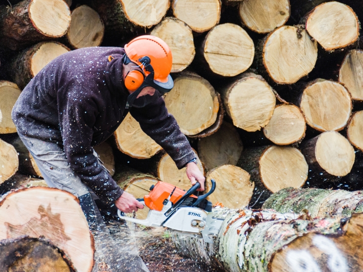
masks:
[[[11,111],[18,100],[21,91],[19,87],[10,81],[0,80],[0,134],[15,133],[16,127],[11,119]]]

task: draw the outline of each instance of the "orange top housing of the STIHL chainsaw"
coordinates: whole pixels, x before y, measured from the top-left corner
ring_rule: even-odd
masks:
[[[170,195],[169,201],[175,204],[183,195],[185,195],[185,191],[172,184],[159,181],[151,192],[144,197],[144,202],[149,209],[161,211],[164,206],[163,202],[167,200]],[[191,195],[190,197],[197,198],[194,195]]]

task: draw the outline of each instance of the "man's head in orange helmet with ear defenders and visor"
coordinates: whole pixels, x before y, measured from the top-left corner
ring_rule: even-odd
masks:
[[[172,53],[162,39],[139,36],[125,45],[125,51],[123,79],[130,106],[143,107],[173,88]]]

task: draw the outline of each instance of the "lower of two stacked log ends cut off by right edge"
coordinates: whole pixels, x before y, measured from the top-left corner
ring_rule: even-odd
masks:
[[[347,126],[347,138],[358,149],[363,151],[363,110],[356,111]]]

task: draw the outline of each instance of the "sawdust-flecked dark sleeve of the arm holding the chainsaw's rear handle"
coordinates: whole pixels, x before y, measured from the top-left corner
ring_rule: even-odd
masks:
[[[70,167],[105,204],[112,204],[123,193],[93,155],[93,126],[99,114],[95,98],[80,90],[67,91],[58,98],[59,123],[64,152]],[[59,95],[59,94],[58,94]]]

